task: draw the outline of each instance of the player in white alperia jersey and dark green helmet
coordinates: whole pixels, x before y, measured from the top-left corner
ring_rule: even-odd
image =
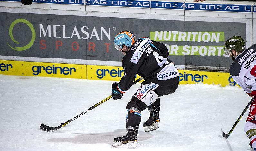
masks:
[[[233,36],[225,43],[225,53],[234,61],[229,72],[236,83],[251,97],[256,96],[256,44],[245,49],[241,36]],[[244,132],[250,139],[250,146],[256,150],[256,101],[251,103]]]

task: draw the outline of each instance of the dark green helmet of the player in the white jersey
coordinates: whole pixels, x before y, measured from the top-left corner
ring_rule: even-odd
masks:
[[[231,50],[234,49],[236,53],[245,50],[245,42],[241,36],[233,36],[225,42],[224,51],[226,55],[232,55]],[[236,57],[236,56],[233,56]]]

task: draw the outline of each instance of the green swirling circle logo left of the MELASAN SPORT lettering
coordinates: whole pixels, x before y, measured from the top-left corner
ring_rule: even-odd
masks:
[[[14,49],[16,51],[24,51],[26,49],[29,49],[35,42],[35,28],[34,28],[34,26],[32,25],[31,22],[29,22],[28,20],[22,19],[22,18],[16,19],[15,21],[13,21],[12,24],[10,25],[10,28],[9,28],[9,36],[13,40],[13,42],[15,42],[17,44],[19,44],[19,42],[16,41],[13,37],[13,28],[17,23],[24,23],[24,24],[28,25],[28,27],[30,28],[31,33],[32,33],[31,40],[26,46],[23,46],[23,47],[13,48],[9,43],[7,43],[7,44],[8,44],[9,47],[11,47],[12,49]]]

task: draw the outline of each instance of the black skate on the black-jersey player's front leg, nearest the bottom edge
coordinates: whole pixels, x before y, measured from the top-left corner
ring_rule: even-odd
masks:
[[[127,127],[127,134],[125,136],[114,138],[113,147],[119,147],[121,145],[127,144],[127,148],[135,148],[137,142],[138,129],[139,127],[137,125],[135,127]]]

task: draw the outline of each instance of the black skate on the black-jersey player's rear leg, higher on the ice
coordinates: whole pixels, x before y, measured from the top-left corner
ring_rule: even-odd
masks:
[[[145,132],[150,132],[159,128],[159,125],[158,125],[158,123],[160,122],[159,111],[160,111],[160,105],[155,105],[149,110],[150,112],[149,118],[143,124],[145,128],[144,129]]]

